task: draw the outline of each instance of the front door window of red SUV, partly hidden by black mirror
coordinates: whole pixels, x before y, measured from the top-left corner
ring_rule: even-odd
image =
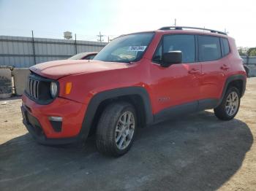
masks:
[[[182,52],[182,63],[195,62],[195,35],[172,34],[164,36],[154,54],[153,61],[161,63],[163,53],[176,50]]]

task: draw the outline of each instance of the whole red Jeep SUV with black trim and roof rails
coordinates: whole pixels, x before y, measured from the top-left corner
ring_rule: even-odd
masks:
[[[138,128],[205,109],[236,116],[246,72],[235,40],[206,28],[168,26],[113,39],[93,61],[30,67],[23,123],[41,144],[96,138],[118,157]]]

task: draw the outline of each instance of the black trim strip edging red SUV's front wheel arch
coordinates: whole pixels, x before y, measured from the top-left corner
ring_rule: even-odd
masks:
[[[146,125],[152,124],[154,122],[154,117],[151,109],[151,101],[147,90],[144,87],[120,87],[113,90],[106,90],[97,93],[91,98],[89,105],[86,109],[85,116],[83,117],[82,127],[79,133],[80,139],[86,139],[89,135],[91,125],[94,120],[94,116],[97,112],[99,104],[102,101],[106,101],[110,98],[118,98],[123,95],[139,95],[143,100],[143,106],[146,117]]]

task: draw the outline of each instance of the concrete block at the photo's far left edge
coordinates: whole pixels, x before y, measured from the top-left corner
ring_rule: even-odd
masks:
[[[12,74],[10,69],[0,69],[0,98],[12,95]]]

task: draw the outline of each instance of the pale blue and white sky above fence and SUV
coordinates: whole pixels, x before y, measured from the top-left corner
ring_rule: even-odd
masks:
[[[97,40],[99,31],[111,37],[154,30],[176,18],[179,26],[226,28],[238,46],[256,47],[255,7],[253,0],[0,0],[0,35],[30,36],[33,29],[37,37],[62,38],[72,31]]]

